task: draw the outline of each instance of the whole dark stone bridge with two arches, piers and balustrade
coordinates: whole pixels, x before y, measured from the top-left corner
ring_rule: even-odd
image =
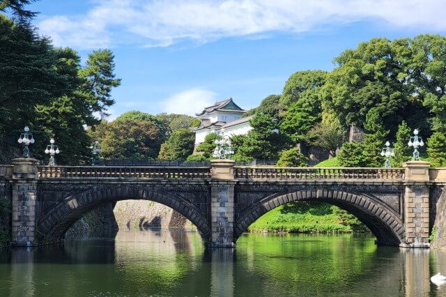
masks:
[[[403,168],[47,167],[29,158],[0,166],[0,199],[12,201],[11,245],[63,239],[69,227],[101,204],[147,199],[193,222],[211,247],[237,238],[272,208],[298,200],[344,208],[382,245],[429,247],[446,169],[429,162]],[[443,199],[443,198],[442,198]]]

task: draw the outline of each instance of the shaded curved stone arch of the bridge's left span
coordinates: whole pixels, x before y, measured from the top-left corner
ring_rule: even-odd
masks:
[[[147,189],[143,185],[137,187],[108,185],[95,186],[84,192],[66,197],[59,204],[56,204],[51,211],[38,221],[36,239],[40,243],[60,241],[70,226],[93,208],[105,202],[127,199],[145,199],[169,206],[190,220],[201,233],[203,240],[207,241],[210,238],[208,219],[197,206],[183,197],[160,194],[153,189]]]

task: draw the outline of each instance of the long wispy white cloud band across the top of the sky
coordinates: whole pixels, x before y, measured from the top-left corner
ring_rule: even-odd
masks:
[[[231,36],[299,33],[375,20],[445,30],[444,0],[100,0],[84,15],[44,17],[40,32],[59,46],[169,46]]]

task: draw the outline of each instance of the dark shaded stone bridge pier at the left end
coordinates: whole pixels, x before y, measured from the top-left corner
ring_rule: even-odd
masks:
[[[36,233],[36,198],[38,160],[17,158],[12,160],[13,203],[11,245],[33,246]]]

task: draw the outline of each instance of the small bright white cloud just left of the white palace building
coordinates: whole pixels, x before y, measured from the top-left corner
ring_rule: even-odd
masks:
[[[170,98],[159,102],[162,112],[167,114],[187,114],[194,116],[196,113],[202,112],[204,107],[213,105],[215,93],[205,89],[189,89],[176,93]]]

